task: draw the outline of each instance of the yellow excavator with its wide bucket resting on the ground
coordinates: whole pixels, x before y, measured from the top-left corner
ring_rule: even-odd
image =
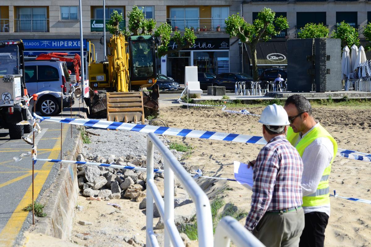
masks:
[[[89,114],[108,121],[144,123],[144,114],[158,111],[157,64],[155,49],[160,39],[151,35],[111,37],[108,61],[96,63],[95,47],[89,58]],[[151,88],[152,91],[143,91]]]

